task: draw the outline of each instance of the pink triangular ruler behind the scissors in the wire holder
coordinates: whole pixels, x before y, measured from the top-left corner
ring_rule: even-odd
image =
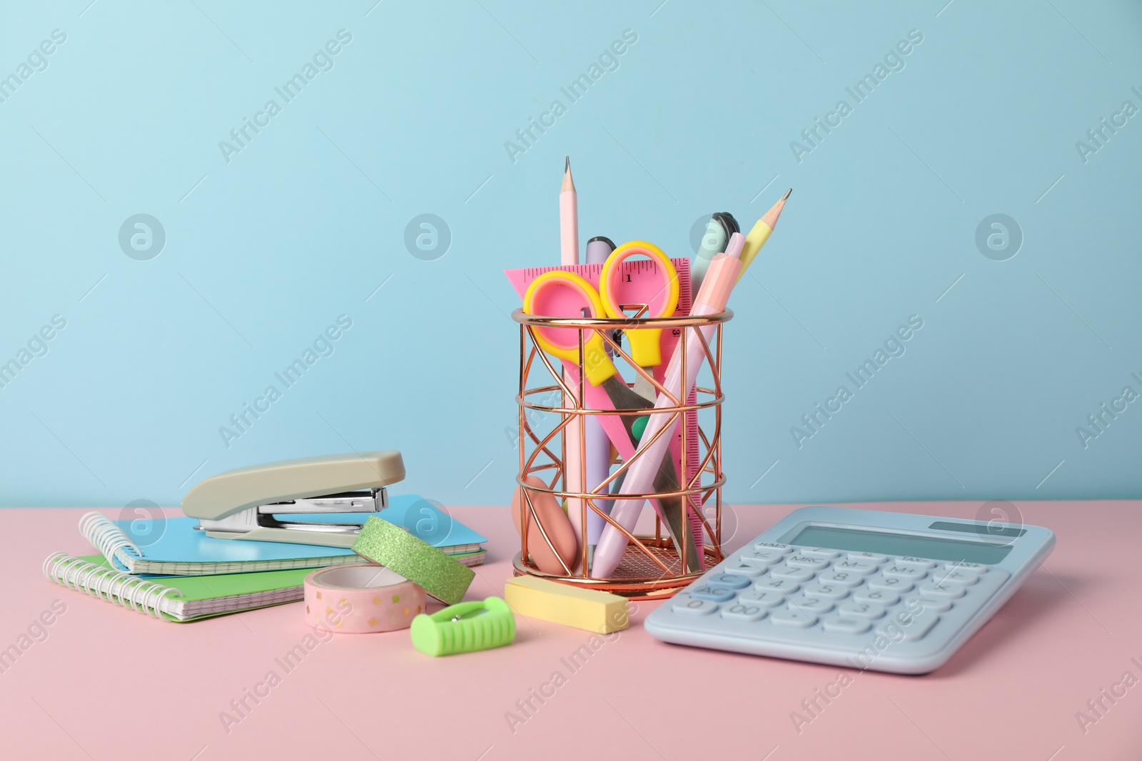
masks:
[[[670,259],[670,262],[678,273],[678,306],[674,311],[674,316],[685,316],[690,314],[690,307],[693,303],[693,294],[690,286],[690,259]],[[576,273],[597,289],[600,274],[603,272],[603,265],[525,267],[522,269],[505,269],[504,274],[507,275],[508,282],[512,283],[512,288],[515,289],[515,292],[521,299],[523,299],[523,294],[526,292],[528,286],[533,280],[544,273],[548,273],[554,269]],[[624,297],[625,299],[629,299],[630,302],[649,302],[661,289],[662,277],[658,272],[657,261],[651,259],[627,259],[626,261],[619,264],[618,270],[619,276],[627,283],[624,288]],[[678,330],[662,331],[662,363],[654,369],[654,380],[659,382],[662,381],[662,377],[666,373],[666,361],[674,355],[674,348],[678,343],[679,335],[681,331]],[[571,363],[564,363],[564,366],[573,369]],[[621,373],[619,374],[619,378],[621,380]],[[574,373],[573,377],[569,375],[568,380],[578,384],[578,373]],[[596,395],[592,392],[593,390],[594,389],[588,389],[587,394],[587,403],[590,406],[596,408],[613,408],[609,398],[606,398],[605,404],[597,403],[602,398],[606,397],[605,392]],[[602,389],[598,390],[602,391]],[[693,404],[694,398],[695,396],[692,392],[687,402]],[[633,447],[626,436],[626,429],[621,426],[621,421],[619,421],[617,415],[602,415],[602,419],[604,430],[606,430],[611,443],[614,444],[614,448],[618,450],[624,460],[628,460],[633,454]],[[609,422],[610,424],[608,424]],[[685,415],[686,456],[684,464],[682,463],[681,458],[682,427],[678,427],[677,430],[678,432],[675,435],[674,440],[670,442],[670,454],[674,458],[677,472],[682,473],[683,483],[686,483],[693,478],[694,473],[698,471],[698,413],[687,412]],[[689,518],[694,539],[700,542],[703,532],[698,507],[697,500],[691,502]],[[705,568],[705,556],[701,557],[700,560],[702,562],[702,567]]]

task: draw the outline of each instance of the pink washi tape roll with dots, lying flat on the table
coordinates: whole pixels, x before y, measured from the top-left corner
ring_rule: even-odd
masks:
[[[425,590],[371,562],[319,568],[305,577],[305,622],[332,632],[368,634],[408,629],[425,613]]]

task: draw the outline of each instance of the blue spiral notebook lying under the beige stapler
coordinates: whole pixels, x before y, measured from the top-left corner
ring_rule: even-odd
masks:
[[[370,515],[375,513],[291,515],[289,519],[352,524],[364,523]],[[480,544],[488,541],[485,537],[415,494],[392,497],[389,507],[376,515],[444,552],[463,554],[457,559],[465,565],[483,560]],[[80,519],[79,528],[114,568],[129,574],[201,576],[320,568],[360,561],[349,549],[211,539],[195,526],[198,520],[194,518],[166,518],[142,537],[132,533],[129,520],[112,520],[102,513],[89,512]]]

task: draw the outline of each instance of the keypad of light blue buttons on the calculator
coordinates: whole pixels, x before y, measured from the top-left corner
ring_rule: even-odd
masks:
[[[1008,577],[980,564],[754,542],[670,609],[711,634],[851,653],[874,641],[933,649]]]

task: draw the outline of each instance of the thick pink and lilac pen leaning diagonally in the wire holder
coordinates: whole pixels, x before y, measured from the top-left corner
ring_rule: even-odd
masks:
[[[691,316],[713,315],[725,309],[725,305],[730,299],[730,292],[733,290],[741,273],[742,262],[738,257],[741,253],[745,242],[746,236],[741,233],[734,233],[730,236],[725,253],[715,256],[710,261],[706,278],[702,281],[701,289],[694,299],[694,306],[690,310]],[[690,331],[694,329],[687,327],[685,330]],[[706,342],[710,343],[717,326],[703,325],[698,330],[701,332],[702,338],[706,339]],[[682,378],[683,346],[686,348],[685,379]],[[667,365],[662,387],[669,390],[675,398],[685,399],[690,394],[690,389],[694,387],[694,382],[698,380],[698,371],[705,357],[706,353],[698,335],[691,334],[686,337],[684,342],[679,341],[674,350],[674,356],[670,357],[670,364]],[[654,402],[654,408],[673,406],[675,406],[674,402],[665,392],[659,394]],[[656,435],[669,424],[671,414],[658,413],[650,415],[650,420],[641,438],[643,444],[636,453],[637,459],[627,470],[626,479],[622,481],[621,494],[646,494],[651,491],[654,475],[658,471],[658,464],[670,445],[670,439],[676,435],[675,431],[681,422],[679,415],[678,419],[675,419],[670,431],[664,431],[661,436],[656,438]],[[611,518],[628,532],[634,532],[644,501],[638,497],[616,501],[611,510]],[[627,537],[622,532],[611,525],[604,527],[598,544],[595,547],[595,558],[590,569],[592,575],[605,578],[613,574],[622,560],[622,553],[626,551],[626,548]]]

